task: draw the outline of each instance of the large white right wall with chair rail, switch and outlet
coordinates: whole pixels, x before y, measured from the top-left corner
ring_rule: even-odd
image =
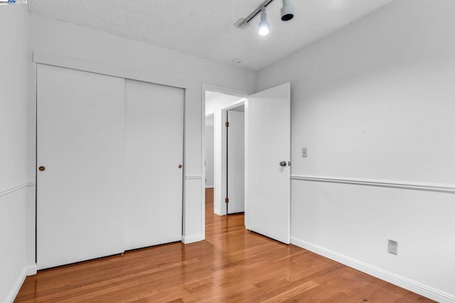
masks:
[[[441,302],[455,302],[454,193],[308,178],[455,187],[454,11],[395,0],[257,72],[257,91],[291,82],[293,242]]]

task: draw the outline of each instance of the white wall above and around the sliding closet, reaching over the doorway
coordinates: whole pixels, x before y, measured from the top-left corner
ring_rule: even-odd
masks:
[[[203,84],[230,87],[251,92],[255,86],[255,74],[233,65],[185,55],[173,50],[139,43],[116,35],[82,28],[70,23],[54,21],[30,14],[31,50],[63,57],[96,62],[102,65],[121,67],[144,72],[166,79],[186,82],[185,101],[185,166],[183,241],[198,241],[203,238],[203,157],[201,91]],[[34,69],[32,64],[29,108],[35,104]],[[30,119],[33,122],[33,112]],[[34,123],[33,123],[34,125]],[[29,175],[34,175],[35,141],[34,128],[29,129],[31,144],[28,157],[31,165]],[[32,199],[29,204],[33,204]],[[32,213],[32,211],[30,211]],[[28,217],[34,224],[34,219]],[[29,241],[32,244],[33,241]]]

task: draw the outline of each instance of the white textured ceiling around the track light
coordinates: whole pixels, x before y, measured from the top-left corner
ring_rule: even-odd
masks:
[[[280,20],[282,1],[267,8],[270,34],[259,36],[259,16],[235,28],[263,0],[28,0],[28,9],[50,18],[261,70],[392,0],[291,0],[294,19]]]

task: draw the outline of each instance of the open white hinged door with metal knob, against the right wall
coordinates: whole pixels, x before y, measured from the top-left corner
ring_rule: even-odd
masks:
[[[267,89],[245,106],[245,225],[283,243],[290,243],[290,90],[289,83]]]

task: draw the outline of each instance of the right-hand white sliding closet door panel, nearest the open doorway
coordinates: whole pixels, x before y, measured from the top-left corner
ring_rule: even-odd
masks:
[[[125,82],[125,249],[181,241],[183,89]]]

